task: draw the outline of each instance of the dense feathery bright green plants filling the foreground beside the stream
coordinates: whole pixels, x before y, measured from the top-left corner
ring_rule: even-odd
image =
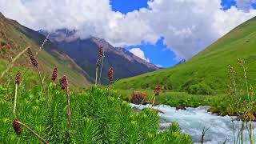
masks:
[[[30,131],[18,136],[12,130],[13,93],[3,88],[0,98],[0,142],[41,143]],[[11,88],[13,91],[14,86]],[[181,134],[177,123],[169,130],[158,131],[160,121],[154,110],[135,114],[127,102],[118,99],[114,90],[90,87],[87,92],[70,94],[71,128],[66,121],[66,94],[55,86],[48,86],[49,98],[39,87],[19,88],[17,118],[30,126],[50,143],[192,143],[189,135]]]

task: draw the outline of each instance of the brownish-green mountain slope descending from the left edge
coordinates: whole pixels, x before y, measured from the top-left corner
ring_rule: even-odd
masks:
[[[46,37],[37,31],[30,30],[18,22],[5,18],[0,13],[0,62],[10,62],[10,57],[15,57],[27,46],[31,46],[34,54],[39,50]],[[60,53],[54,43],[48,41],[43,50],[38,53],[37,59],[43,74],[50,74],[54,67],[58,68],[58,74],[69,78],[74,86],[89,86],[90,77],[68,55]],[[28,66],[30,63],[27,54],[16,61],[15,66],[22,66],[34,70]],[[0,66],[1,67],[1,66]]]

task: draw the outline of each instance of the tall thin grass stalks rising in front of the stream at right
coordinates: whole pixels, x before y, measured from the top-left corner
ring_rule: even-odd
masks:
[[[255,121],[255,94],[253,86],[250,85],[245,62],[238,59],[238,66],[240,70],[234,70],[233,66],[229,66],[229,108],[231,114],[238,115],[238,120],[242,120],[242,123],[235,122],[234,118],[231,118],[231,122],[234,129],[234,143],[243,143],[248,137],[251,144],[254,144],[254,126]],[[238,133],[235,131],[238,129]],[[246,131],[246,134],[244,134]]]

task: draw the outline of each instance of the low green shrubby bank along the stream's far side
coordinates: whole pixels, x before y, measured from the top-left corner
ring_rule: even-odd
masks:
[[[150,101],[154,95],[154,90],[117,90],[120,94],[120,98],[126,101],[130,101],[131,94],[134,91],[139,91],[147,95],[147,100]],[[246,96],[241,98],[241,101],[246,99]],[[186,106],[186,107],[198,107],[209,106],[209,112],[225,115],[238,115],[238,112],[234,112],[230,108],[230,97],[227,94],[214,94],[214,95],[193,95],[186,92],[174,92],[174,91],[162,91],[162,93],[156,97],[155,105],[167,105],[171,107]],[[252,111],[256,114],[256,110]]]

